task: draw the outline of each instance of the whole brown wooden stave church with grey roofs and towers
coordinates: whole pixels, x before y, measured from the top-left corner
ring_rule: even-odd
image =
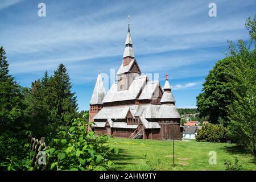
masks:
[[[98,134],[122,138],[181,139],[180,114],[166,73],[164,88],[158,80],[141,75],[133,52],[130,25],[122,64],[106,93],[100,73],[90,100],[89,121]]]

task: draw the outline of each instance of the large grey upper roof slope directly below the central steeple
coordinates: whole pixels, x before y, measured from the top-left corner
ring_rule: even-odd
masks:
[[[138,76],[135,77],[133,82],[131,83],[128,90],[117,90],[117,82],[115,82],[109,92],[104,97],[102,102],[117,102],[117,101],[127,101],[127,100],[135,100],[138,97],[139,91],[146,84],[147,76]]]

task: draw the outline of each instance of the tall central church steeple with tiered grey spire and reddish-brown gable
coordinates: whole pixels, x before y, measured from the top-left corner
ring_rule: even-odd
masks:
[[[134,78],[139,75],[141,75],[141,69],[139,69],[139,65],[134,56],[130,23],[128,23],[128,32],[125,40],[123,61],[117,71],[117,91],[129,89],[131,82],[133,82]]]

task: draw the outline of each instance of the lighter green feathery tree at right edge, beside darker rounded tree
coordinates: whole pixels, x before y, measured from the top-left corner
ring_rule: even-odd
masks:
[[[256,49],[249,51],[245,43],[237,45],[239,52],[234,52],[232,58],[237,60],[231,65],[229,74],[233,79],[232,93],[234,101],[228,107],[230,120],[230,137],[256,155]]]

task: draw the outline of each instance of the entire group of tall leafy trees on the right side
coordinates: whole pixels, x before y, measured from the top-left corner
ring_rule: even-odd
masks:
[[[256,155],[256,15],[245,27],[250,42],[229,41],[226,57],[217,61],[197,97],[201,117],[228,128],[229,138]],[[254,45],[253,45],[254,44]]]

